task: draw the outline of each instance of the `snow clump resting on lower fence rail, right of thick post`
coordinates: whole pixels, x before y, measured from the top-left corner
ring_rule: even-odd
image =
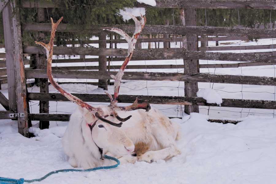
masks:
[[[221,106],[222,98],[216,90],[210,88],[202,89],[197,92],[197,96],[204,98],[207,103],[216,103],[217,105]]]

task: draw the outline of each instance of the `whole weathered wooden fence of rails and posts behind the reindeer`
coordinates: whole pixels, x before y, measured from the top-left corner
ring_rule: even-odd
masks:
[[[15,1],[11,1],[11,4]],[[27,108],[27,101],[40,100],[40,102],[48,101],[67,101],[60,94],[52,93],[27,93],[25,79],[44,79],[47,78],[46,70],[40,67],[36,69],[23,69],[24,64],[30,64],[31,61],[23,63],[23,54],[36,55],[46,54],[45,50],[40,46],[22,46],[21,29],[27,32],[49,32],[51,25],[48,23],[33,23],[20,26],[19,9],[13,10],[11,4],[8,3],[3,9],[3,18],[6,21],[4,24],[5,30],[5,46],[6,47],[6,65],[4,62],[2,67],[6,67],[9,86],[9,101],[2,98],[0,103],[7,111],[0,111],[0,118],[18,120],[19,132],[28,136],[28,121],[68,121],[69,115],[64,114],[30,114]],[[43,0],[25,0],[22,1],[21,7],[63,7],[62,1],[55,1],[53,4],[50,1]],[[135,4],[137,7],[148,7],[144,4]],[[215,82],[215,83],[232,83],[232,84],[250,84],[250,85],[266,85],[276,86],[276,78],[274,77],[259,77],[259,76],[239,76],[239,75],[214,75],[199,73],[199,68],[217,68],[217,67],[241,67],[241,66],[261,66],[273,65],[276,63],[274,52],[258,52],[258,53],[224,53],[224,52],[206,52],[206,51],[228,51],[228,50],[249,50],[249,49],[271,49],[274,45],[254,45],[254,46],[215,46],[215,47],[198,47],[197,42],[208,41],[231,41],[231,40],[248,40],[248,37],[258,38],[274,38],[276,37],[276,29],[261,29],[261,28],[240,28],[240,27],[210,27],[196,26],[195,22],[185,23],[186,20],[195,20],[193,17],[194,8],[258,8],[258,9],[276,9],[276,2],[267,0],[263,3],[262,0],[159,0],[156,7],[167,8],[185,8],[185,12],[181,11],[182,25],[146,25],[142,34],[159,35],[159,38],[140,38],[138,42],[178,42],[181,48],[137,48],[133,54],[133,61],[138,60],[164,60],[164,59],[183,59],[183,65],[147,65],[147,69],[168,69],[168,68],[183,68],[185,73],[165,73],[165,72],[130,72],[126,71],[123,79],[125,80],[153,80],[153,81],[184,81],[186,97],[172,96],[138,96],[140,100],[148,99],[152,104],[173,104],[185,105],[186,112],[198,111],[198,105],[217,106],[217,104],[209,104],[203,98],[196,97],[193,89],[197,88],[197,82]],[[16,12],[13,12],[16,11]],[[13,17],[12,17],[13,15]],[[15,21],[12,21],[15,20]],[[91,25],[90,29],[79,29],[79,25],[60,24],[57,28],[58,32],[90,32],[95,34],[105,33],[103,27],[117,27],[123,29],[127,33],[134,31],[133,25]],[[107,34],[107,33],[105,33]],[[171,34],[170,38],[160,38],[163,34]],[[198,37],[211,36],[211,37]],[[213,37],[226,36],[226,37]],[[193,42],[192,45],[187,42]],[[106,43],[125,43],[125,40],[106,40]],[[83,44],[98,44],[99,40],[84,40]],[[14,45],[15,44],[15,45]],[[67,44],[79,44],[78,41],[68,41]],[[11,49],[16,48],[15,51]],[[276,47],[276,46],[275,46]],[[18,56],[19,53],[19,56]],[[112,61],[122,61],[126,56],[127,49],[121,48],[94,48],[94,47],[54,47],[54,55],[92,55],[92,56],[112,56]],[[198,59],[204,60],[219,60],[219,61],[234,61],[231,64],[199,64]],[[83,62],[99,62],[98,58],[82,58],[82,59],[56,59],[56,63],[80,63]],[[247,62],[247,63],[240,63]],[[36,63],[32,63],[38,66]],[[106,63],[105,63],[106,65]],[[119,66],[114,66],[117,69]],[[145,69],[145,66],[129,65],[127,69]],[[110,75],[116,74],[113,71],[83,71],[83,70],[98,70],[98,66],[68,66],[68,67],[53,67],[53,76],[55,78],[66,79],[111,79]],[[20,71],[20,72],[18,72]],[[0,71],[1,72],[1,71]],[[6,72],[3,70],[3,72]],[[20,81],[20,82],[18,82]],[[47,83],[48,81],[44,81]],[[45,86],[43,87],[45,89]],[[46,87],[47,88],[47,87]],[[40,89],[41,86],[40,86]],[[0,95],[2,95],[0,93]],[[86,102],[109,102],[109,98],[102,94],[75,94],[75,96]],[[132,103],[136,96],[120,95],[118,101],[120,103]],[[43,99],[43,101],[41,101]],[[41,103],[43,104],[43,103]],[[240,108],[257,108],[257,109],[276,109],[276,101],[265,100],[242,100],[242,99],[223,99],[222,107],[240,107]],[[194,110],[191,110],[193,107]],[[44,106],[47,109],[48,106]],[[24,116],[22,116],[24,114]],[[213,121],[213,120],[212,120]]]

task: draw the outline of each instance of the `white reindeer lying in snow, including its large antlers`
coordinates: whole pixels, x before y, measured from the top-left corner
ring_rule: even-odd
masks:
[[[103,154],[117,157],[121,163],[136,161],[154,162],[158,159],[167,160],[180,154],[175,140],[180,138],[180,126],[171,122],[168,117],[156,109],[151,109],[148,101],[122,107],[117,105],[121,79],[126,65],[132,57],[134,45],[145,25],[145,18],[138,21],[133,15],[136,29],[132,37],[117,28],[105,28],[119,33],[128,42],[128,56],[121,66],[114,83],[113,97],[106,93],[111,103],[108,106],[92,107],[79,98],[64,91],[53,80],[52,54],[56,23],[52,21],[52,32],[49,44],[36,42],[46,49],[47,74],[51,84],[66,98],[79,105],[71,115],[69,125],[63,136],[64,152],[69,156],[72,167],[85,169],[110,165],[112,161],[103,158]],[[133,111],[135,110],[135,111]],[[127,116],[127,117],[126,117]],[[121,118],[126,117],[126,118]],[[124,124],[122,122],[125,122]]]

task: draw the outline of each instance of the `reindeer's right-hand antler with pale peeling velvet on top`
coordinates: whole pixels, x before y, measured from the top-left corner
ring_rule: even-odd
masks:
[[[135,22],[135,32],[133,34],[132,37],[128,36],[127,33],[125,33],[123,30],[121,29],[118,29],[118,28],[103,28],[104,30],[109,30],[109,31],[112,31],[112,32],[115,32],[115,33],[118,33],[120,34],[121,36],[123,36],[125,38],[125,40],[128,42],[128,56],[125,58],[125,61],[124,63],[122,64],[119,72],[117,73],[116,76],[114,75],[111,75],[111,77],[113,79],[115,79],[115,82],[114,82],[114,95],[113,95],[113,98],[110,94],[108,94],[107,92],[105,92],[111,102],[110,102],[110,107],[113,109],[113,115],[115,117],[117,117],[117,119],[119,121],[127,121],[131,116],[129,117],[126,117],[126,118],[121,118],[117,115],[117,113],[115,112],[115,109],[120,109],[120,110],[124,110],[124,111],[131,111],[131,110],[136,110],[136,109],[145,109],[146,111],[149,111],[151,109],[148,101],[144,101],[142,103],[138,103],[138,98],[136,98],[136,100],[133,102],[132,105],[129,105],[127,107],[121,107],[121,106],[118,106],[117,105],[117,99],[118,99],[118,95],[119,95],[119,90],[120,90],[120,85],[121,85],[121,79],[124,75],[124,71],[125,71],[125,68],[128,64],[128,62],[130,61],[131,57],[132,57],[132,54],[133,54],[133,51],[134,51],[134,46],[136,44],[136,41],[140,35],[140,33],[142,32],[145,24],[146,24],[146,17],[145,16],[142,16],[140,15],[141,17],[141,20],[139,21],[134,15],[128,13],[128,12],[125,12],[125,14],[128,14],[132,17],[132,19],[134,20]]]

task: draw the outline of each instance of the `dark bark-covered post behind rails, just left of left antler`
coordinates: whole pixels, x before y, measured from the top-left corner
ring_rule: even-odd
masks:
[[[45,8],[37,8],[37,22],[45,22]],[[45,33],[38,32],[36,40],[45,41]],[[36,54],[35,65],[37,69],[46,70],[47,68],[47,57],[44,54]],[[49,93],[49,82],[48,78],[36,79],[36,85],[40,88],[40,93]],[[49,102],[39,101],[39,113],[49,113]],[[39,121],[39,128],[49,128],[49,121]]]

